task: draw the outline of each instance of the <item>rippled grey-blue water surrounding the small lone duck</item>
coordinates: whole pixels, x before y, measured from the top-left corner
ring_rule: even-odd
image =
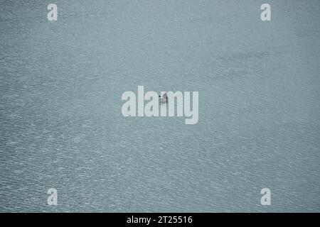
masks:
[[[0,1],[0,211],[320,211],[320,1],[50,3]],[[198,123],[125,118],[138,85]]]

